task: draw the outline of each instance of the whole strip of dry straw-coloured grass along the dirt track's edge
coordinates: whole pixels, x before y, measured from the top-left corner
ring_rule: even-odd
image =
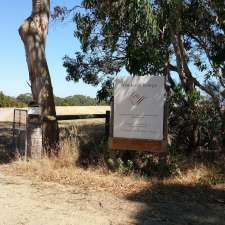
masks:
[[[32,179],[57,182],[65,185],[78,185],[84,189],[109,191],[119,195],[139,193],[150,190],[154,184],[182,184],[194,186],[207,177],[214,176],[214,169],[204,165],[195,165],[183,171],[179,176],[158,180],[146,179],[135,175],[125,176],[111,173],[106,168],[83,169],[76,166],[78,155],[71,151],[70,144],[64,143],[58,157],[44,157],[42,160],[18,160],[7,166],[7,171]]]

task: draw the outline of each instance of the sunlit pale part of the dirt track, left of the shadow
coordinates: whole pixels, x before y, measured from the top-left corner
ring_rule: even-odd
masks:
[[[137,224],[132,214],[142,205],[109,193],[38,184],[0,172],[1,225]]]

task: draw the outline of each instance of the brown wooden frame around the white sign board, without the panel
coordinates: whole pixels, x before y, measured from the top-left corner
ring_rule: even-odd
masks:
[[[166,79],[165,79],[166,81]],[[166,82],[165,82],[166,86]],[[165,90],[166,87],[165,87]],[[164,116],[163,116],[163,140],[150,139],[134,139],[134,138],[118,138],[113,137],[114,124],[114,100],[111,101],[110,113],[110,131],[108,144],[112,150],[135,150],[146,151],[151,153],[165,153],[167,152],[167,137],[168,137],[168,102],[167,98],[164,102]]]

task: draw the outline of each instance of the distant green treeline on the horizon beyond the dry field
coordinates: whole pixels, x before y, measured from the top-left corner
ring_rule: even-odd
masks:
[[[0,107],[26,107],[30,101],[32,101],[30,93],[10,97],[0,92]],[[65,98],[55,96],[55,104],[57,106],[106,105],[105,102],[98,102],[97,99],[84,95],[73,95]]]

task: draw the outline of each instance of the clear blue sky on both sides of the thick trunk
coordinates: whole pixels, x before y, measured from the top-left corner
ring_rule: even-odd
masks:
[[[21,22],[31,13],[31,0],[1,1],[0,27],[0,91],[10,96],[30,92],[24,47],[18,34]],[[79,0],[52,0],[54,5],[79,4]],[[46,54],[51,73],[54,94],[69,96],[83,94],[95,97],[97,89],[80,83],[67,82],[62,66],[65,54],[73,56],[79,50],[79,42],[74,38],[75,25],[72,22],[55,23],[49,26]]]

